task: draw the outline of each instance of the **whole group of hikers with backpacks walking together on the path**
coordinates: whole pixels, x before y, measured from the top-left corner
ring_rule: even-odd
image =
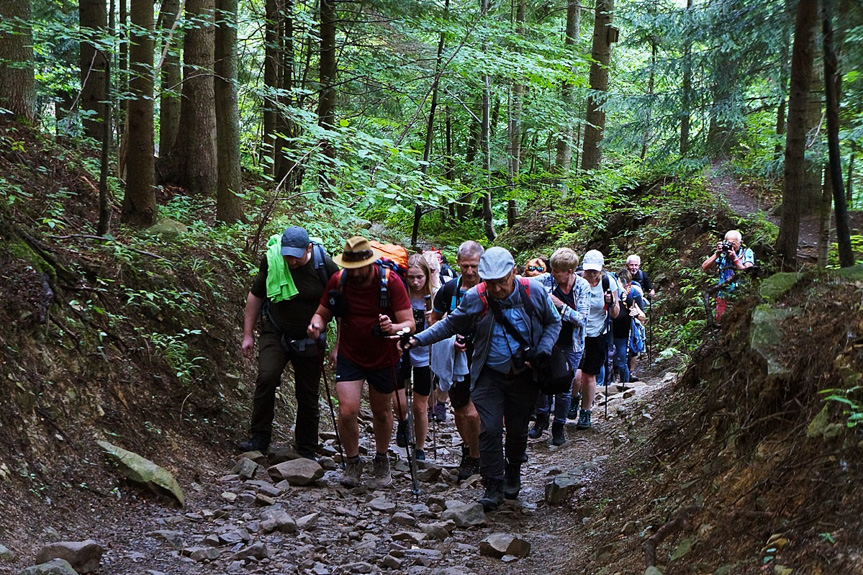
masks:
[[[727,250],[720,252],[714,260],[729,259]],[[591,427],[596,389],[605,378],[616,372],[621,384],[635,379],[655,293],[637,255],[609,273],[599,251],[579,260],[572,249],[560,248],[519,269],[506,249],[466,241],[456,255],[460,274],[449,281],[444,280],[450,268],[435,250],[411,255],[401,270],[404,278],[391,263],[361,236],[348,239],[332,258],[301,227],[270,238],[245,308],[242,351],[250,359],[259,320],[260,331],[250,438],[240,444],[243,451],[269,447],[276,388],[290,362],[297,452],[316,458],[319,387],[333,319],[340,482],[349,488],[364,471],[358,416],[366,383],[373,485],[392,483],[387,454],[394,414],[396,444],[424,460],[429,421],[445,418],[448,396],[462,440],[458,479],[480,474],[480,503],[488,511],[518,498],[529,437],[542,437],[552,419],[551,442],[562,445],[567,418],[576,420],[578,430]],[[565,391],[546,396],[537,374],[561,353],[574,370],[571,387],[566,383]]]

